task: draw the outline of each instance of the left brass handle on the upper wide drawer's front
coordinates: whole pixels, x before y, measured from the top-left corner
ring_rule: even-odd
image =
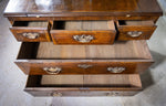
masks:
[[[62,71],[61,67],[44,67],[43,70],[49,74],[59,74]]]

